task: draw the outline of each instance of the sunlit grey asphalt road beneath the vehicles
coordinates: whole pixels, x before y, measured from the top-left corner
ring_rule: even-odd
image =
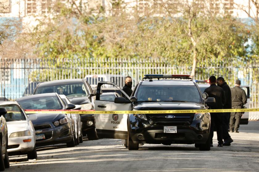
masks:
[[[194,145],[145,144],[128,151],[119,139],[99,139],[67,148],[65,145],[37,149],[38,159],[10,157],[9,171],[259,171],[259,121],[230,133],[231,146],[199,151]]]

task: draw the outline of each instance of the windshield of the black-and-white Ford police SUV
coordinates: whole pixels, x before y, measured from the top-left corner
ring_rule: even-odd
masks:
[[[202,102],[199,90],[195,85],[140,85],[137,101]]]

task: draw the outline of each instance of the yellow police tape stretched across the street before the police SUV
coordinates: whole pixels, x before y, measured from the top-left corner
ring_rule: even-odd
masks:
[[[215,113],[215,112],[255,112],[251,109],[201,109],[201,110],[146,110],[146,111],[94,111],[94,110],[25,110],[27,114],[68,113],[68,114],[165,114],[165,113]]]

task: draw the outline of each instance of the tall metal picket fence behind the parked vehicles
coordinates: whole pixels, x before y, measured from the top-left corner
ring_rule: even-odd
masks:
[[[207,65],[204,65],[207,64]],[[40,82],[61,79],[85,78],[92,86],[109,78],[123,87],[125,76],[133,78],[133,86],[144,74],[190,74],[191,65],[174,65],[170,59],[0,59],[0,97],[9,100],[33,94]],[[234,59],[197,64],[195,79],[223,76],[234,86],[239,78],[242,85],[250,86],[250,108],[258,108],[259,65],[256,62],[238,63]]]

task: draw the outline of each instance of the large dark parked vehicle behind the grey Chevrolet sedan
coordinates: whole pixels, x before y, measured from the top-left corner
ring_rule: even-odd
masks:
[[[72,104],[81,106],[81,110],[93,110],[93,91],[85,79],[66,79],[43,82],[37,85],[34,94],[51,93],[64,94]],[[98,139],[95,130],[94,114],[80,114],[83,135],[89,140]]]

